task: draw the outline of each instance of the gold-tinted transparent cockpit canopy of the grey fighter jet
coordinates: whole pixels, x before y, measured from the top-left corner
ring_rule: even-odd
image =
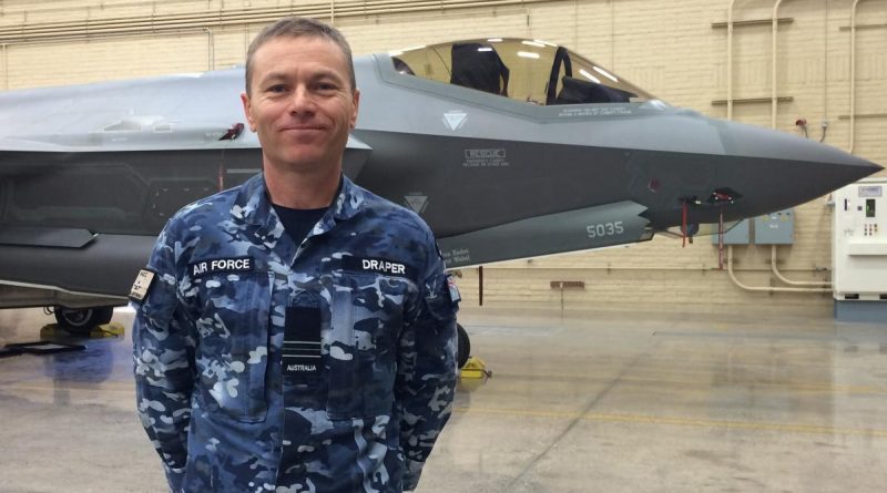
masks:
[[[402,74],[530,104],[642,103],[653,96],[563,47],[538,40],[469,40],[391,52]]]

